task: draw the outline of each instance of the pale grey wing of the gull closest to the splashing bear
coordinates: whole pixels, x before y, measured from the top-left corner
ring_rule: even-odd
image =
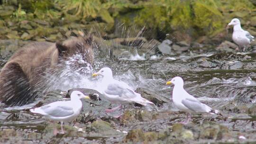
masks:
[[[136,94],[133,90],[130,90],[129,88],[119,85],[117,83],[109,84],[107,90],[105,90],[105,93],[109,95],[118,95],[119,97],[126,99],[136,97]]]

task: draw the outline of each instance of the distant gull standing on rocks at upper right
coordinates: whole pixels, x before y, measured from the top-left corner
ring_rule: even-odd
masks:
[[[232,19],[228,26],[234,26],[232,39],[240,48],[243,48],[243,51],[245,51],[247,45],[251,44],[251,41],[254,41],[254,36],[242,29],[238,18]]]

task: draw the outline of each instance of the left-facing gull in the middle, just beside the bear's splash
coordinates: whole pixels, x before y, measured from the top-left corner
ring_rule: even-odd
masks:
[[[104,67],[99,72],[92,74],[92,76],[97,75],[103,76],[101,81],[101,92],[104,98],[111,103],[119,104],[118,107],[106,109],[107,113],[122,108],[122,104],[130,102],[136,102],[143,106],[148,106],[149,104],[154,105],[153,102],[142,98],[139,93],[132,90],[127,83],[113,79],[113,74],[109,67]]]

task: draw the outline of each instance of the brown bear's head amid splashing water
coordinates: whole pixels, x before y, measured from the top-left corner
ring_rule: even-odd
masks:
[[[87,63],[93,62],[92,36],[71,37],[63,42],[56,42],[55,54],[52,57],[52,65],[66,61],[68,58],[78,54]]]

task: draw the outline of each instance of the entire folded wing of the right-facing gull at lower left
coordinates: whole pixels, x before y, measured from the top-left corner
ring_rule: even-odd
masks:
[[[41,109],[47,115],[52,116],[52,117],[67,117],[67,116],[72,115],[74,113],[73,108],[63,102],[64,101],[54,102],[49,105],[41,107]]]

